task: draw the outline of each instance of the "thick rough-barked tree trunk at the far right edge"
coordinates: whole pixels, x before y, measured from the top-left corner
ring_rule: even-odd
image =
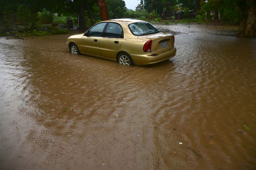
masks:
[[[237,37],[253,37],[256,36],[256,0],[237,0],[242,20]]]

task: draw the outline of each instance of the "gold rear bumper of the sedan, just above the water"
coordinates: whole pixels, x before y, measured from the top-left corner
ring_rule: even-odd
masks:
[[[133,59],[135,65],[148,65],[170,59],[174,57],[175,54],[176,48],[174,47],[170,50],[162,51],[159,53],[150,53],[144,55],[130,54],[130,56]]]

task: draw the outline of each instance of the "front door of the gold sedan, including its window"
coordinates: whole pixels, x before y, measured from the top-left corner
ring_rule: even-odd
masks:
[[[81,38],[81,50],[83,54],[100,56],[100,39],[107,22],[94,25]]]

